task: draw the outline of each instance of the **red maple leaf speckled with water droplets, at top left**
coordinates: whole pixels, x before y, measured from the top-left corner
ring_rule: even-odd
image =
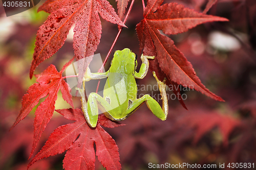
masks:
[[[74,28],[74,51],[76,60],[91,56],[101,37],[98,13],[105,20],[125,27],[114,8],[106,0],[48,0],[39,9],[51,13],[37,31],[30,78],[39,63],[50,58],[64,44],[72,25]],[[79,80],[88,63],[78,65]]]

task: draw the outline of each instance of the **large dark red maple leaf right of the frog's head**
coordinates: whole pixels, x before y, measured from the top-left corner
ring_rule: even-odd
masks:
[[[201,14],[177,3],[160,6],[162,2],[162,0],[147,1],[144,19],[136,27],[140,51],[143,50],[147,56],[156,56],[155,60],[150,61],[150,69],[156,71],[160,80],[166,77],[170,82],[193,87],[212,99],[223,101],[201,83],[191,63],[174,45],[174,41],[161,34],[159,30],[164,34],[179,34],[204,22],[227,21],[227,19]]]

